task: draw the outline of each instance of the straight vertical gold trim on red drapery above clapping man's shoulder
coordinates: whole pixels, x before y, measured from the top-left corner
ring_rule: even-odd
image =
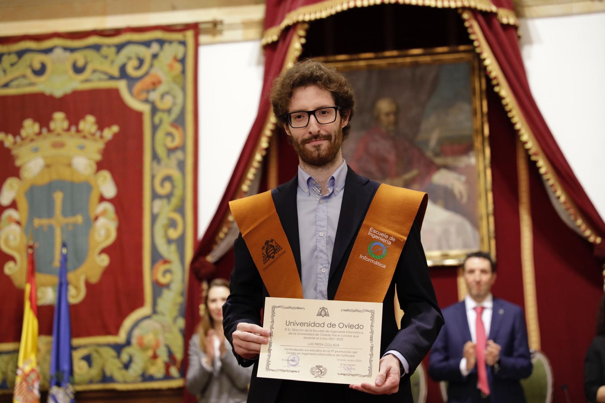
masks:
[[[518,138],[516,143],[519,228],[521,231],[521,272],[523,277],[525,321],[528,327],[529,348],[540,350],[540,322],[538,321],[538,298],[536,297],[535,290],[534,226],[531,219],[529,167],[523,143]]]

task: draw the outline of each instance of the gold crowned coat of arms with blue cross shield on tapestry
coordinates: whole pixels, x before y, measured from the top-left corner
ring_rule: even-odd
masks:
[[[14,259],[4,274],[24,288],[27,238],[33,235],[40,305],[54,303],[62,240],[70,245],[71,304],[83,300],[86,282],[97,283],[110,263],[102,251],[116,240],[116,211],[107,200],[117,188],[109,171],[97,172],[97,162],[118,131],[116,125],[99,129],[91,115],[70,126],[65,113],[55,112],[48,128],[26,119],[18,135],[0,133],[19,168],[19,178],[9,177],[0,189],[0,205],[14,200],[17,206],[0,215],[0,249]]]

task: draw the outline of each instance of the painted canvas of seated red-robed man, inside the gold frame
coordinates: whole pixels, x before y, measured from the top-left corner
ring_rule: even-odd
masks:
[[[427,255],[480,247],[470,85],[453,80],[465,71],[463,64],[410,66],[352,77],[374,101],[358,99],[345,160],[369,179],[429,193],[421,232]],[[397,84],[404,88],[393,90]]]

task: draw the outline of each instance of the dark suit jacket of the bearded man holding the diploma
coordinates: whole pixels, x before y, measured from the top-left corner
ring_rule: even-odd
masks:
[[[333,300],[336,295],[356,235],[379,185],[378,182],[361,177],[353,172],[353,169],[348,168],[330,264],[329,300]],[[300,276],[301,256],[296,209],[297,186],[298,178],[294,177],[289,182],[273,189],[272,196],[281,225],[292,248],[296,268]],[[393,214],[397,214],[397,212],[395,211]],[[238,323],[260,325],[260,312],[264,307],[264,298],[269,297],[241,234],[234,243],[234,257],[235,267],[231,274],[231,294],[223,305],[224,333],[232,346],[232,334],[237,329]],[[393,300],[395,289],[397,289],[399,304],[405,312],[401,321],[401,330],[397,329],[397,323],[394,319]],[[299,385],[295,386],[299,388],[307,388],[309,391],[322,390],[321,393],[307,395],[307,398],[309,398],[307,401],[393,401],[411,403],[409,376],[429,352],[442,324],[443,318],[439,306],[437,306],[437,298],[428,273],[427,260],[422,244],[420,244],[419,226],[414,223],[401,252],[401,257],[382,307],[381,355],[387,350],[397,350],[410,364],[410,374],[401,379],[398,393],[374,396],[350,389],[348,385],[344,384],[315,384],[312,382],[257,378],[258,359],[244,360],[237,354],[235,356],[243,366],[254,365],[248,393],[249,402],[275,402],[283,383],[296,382]],[[292,389],[291,384],[287,385],[288,388]],[[329,390],[325,389],[326,385]],[[334,396],[337,397],[334,398]]]

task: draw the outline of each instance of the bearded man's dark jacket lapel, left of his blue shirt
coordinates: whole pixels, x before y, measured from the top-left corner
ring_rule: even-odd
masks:
[[[298,208],[296,207],[297,188],[298,176],[295,176],[289,182],[273,189],[271,195],[273,196],[277,215],[280,217],[281,226],[292,248],[298,277],[301,278],[301,246],[298,237]]]

